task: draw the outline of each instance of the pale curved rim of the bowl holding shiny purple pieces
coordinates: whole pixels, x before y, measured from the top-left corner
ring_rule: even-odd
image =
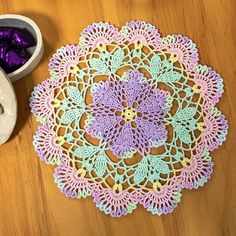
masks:
[[[14,77],[16,75],[19,75],[21,72],[23,72],[27,68],[29,68],[29,66],[37,59],[38,55],[41,53],[42,47],[43,47],[43,39],[42,39],[42,34],[41,34],[41,31],[40,31],[38,25],[32,19],[30,19],[26,16],[23,16],[23,15],[18,15],[18,14],[0,15],[0,20],[3,20],[3,19],[15,19],[15,20],[24,21],[33,28],[33,30],[35,31],[35,34],[36,34],[37,44],[36,44],[33,54],[29,58],[29,60],[23,66],[18,68],[17,70],[15,70],[9,74],[6,74],[11,79],[12,82],[15,82],[18,79],[20,79],[21,77],[20,76],[19,76],[19,78],[14,78]]]

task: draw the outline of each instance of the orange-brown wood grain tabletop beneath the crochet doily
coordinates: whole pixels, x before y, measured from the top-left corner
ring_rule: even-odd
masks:
[[[0,235],[236,235],[236,1],[235,0],[0,0],[0,13],[18,13],[37,22],[45,42],[38,68],[14,88],[18,120],[6,144],[0,146]],[[141,206],[113,219],[91,198],[73,200],[54,184],[54,167],[39,160],[32,146],[38,123],[28,100],[35,85],[48,78],[52,53],[77,43],[88,24],[112,22],[118,27],[142,19],[162,36],[183,34],[197,44],[200,62],[224,78],[218,104],[229,120],[229,134],[212,153],[211,180],[198,190],[184,190],[172,214],[153,216]]]

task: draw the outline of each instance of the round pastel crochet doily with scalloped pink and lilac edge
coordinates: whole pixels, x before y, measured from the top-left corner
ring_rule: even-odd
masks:
[[[228,124],[215,107],[222,78],[198,61],[189,38],[143,21],[94,23],[58,49],[30,107],[42,123],[35,150],[57,166],[60,190],[118,217],[138,204],[170,213],[183,188],[203,186]]]

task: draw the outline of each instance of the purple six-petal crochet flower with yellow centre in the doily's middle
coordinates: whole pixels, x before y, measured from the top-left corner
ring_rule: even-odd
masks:
[[[129,70],[126,80],[111,76],[92,93],[88,114],[93,119],[86,131],[117,156],[128,151],[147,155],[151,146],[159,146],[167,138],[168,94],[151,86],[136,70]]]

